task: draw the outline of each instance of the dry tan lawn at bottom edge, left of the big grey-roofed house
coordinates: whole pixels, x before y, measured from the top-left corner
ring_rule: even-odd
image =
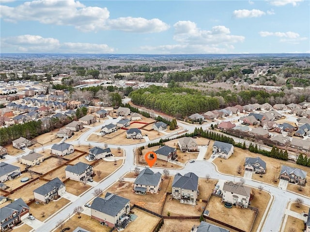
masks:
[[[100,232],[109,232],[111,228],[100,225],[99,221],[91,218],[86,214],[80,214],[81,218],[78,218],[78,215],[70,217],[70,220],[67,220],[64,223],[64,228],[69,227],[70,230],[67,232],[74,231],[78,226],[87,230],[87,231],[100,231]],[[59,231],[59,230],[57,230]]]

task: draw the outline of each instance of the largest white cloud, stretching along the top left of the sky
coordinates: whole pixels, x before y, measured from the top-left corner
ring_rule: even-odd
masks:
[[[109,19],[104,7],[85,6],[76,0],[33,0],[16,7],[0,6],[1,18],[9,22],[38,21],[73,26],[81,31],[119,29],[129,32],[160,32],[169,26],[157,18],[120,17]]]

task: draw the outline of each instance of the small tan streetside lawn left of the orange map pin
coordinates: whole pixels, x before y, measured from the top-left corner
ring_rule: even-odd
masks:
[[[106,178],[109,174],[113,173],[116,169],[118,169],[123,163],[123,160],[117,160],[116,164],[114,165],[114,161],[105,161],[100,160],[95,166],[93,166],[93,172],[96,174],[93,177],[93,180],[96,182],[101,181],[102,179]],[[101,171],[100,177],[98,176],[98,171]]]

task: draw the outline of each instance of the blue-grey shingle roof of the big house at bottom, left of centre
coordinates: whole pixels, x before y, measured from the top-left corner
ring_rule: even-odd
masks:
[[[91,208],[115,217],[129,203],[129,199],[107,192],[105,198],[96,197]]]

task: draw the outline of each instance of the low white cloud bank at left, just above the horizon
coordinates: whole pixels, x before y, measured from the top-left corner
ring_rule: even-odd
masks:
[[[60,43],[54,38],[39,35],[19,35],[1,39],[1,49],[9,48],[16,52],[60,52],[60,53],[112,53],[107,44]]]

